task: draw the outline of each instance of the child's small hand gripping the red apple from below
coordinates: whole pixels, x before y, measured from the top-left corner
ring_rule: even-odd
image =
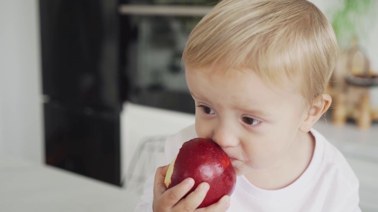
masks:
[[[209,190],[208,183],[200,183],[197,188],[182,199],[184,195],[193,187],[194,180],[187,178],[176,186],[166,189],[164,178],[168,166],[159,167],[155,173],[155,182],[153,185],[153,212],[205,212],[219,211],[225,212],[230,203],[229,196],[225,195],[217,203],[208,207],[196,209],[203,201]]]

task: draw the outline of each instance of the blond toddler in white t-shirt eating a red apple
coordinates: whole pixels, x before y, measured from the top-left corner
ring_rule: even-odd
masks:
[[[358,212],[359,182],[313,125],[330,107],[325,88],[338,57],[330,22],[307,0],[223,0],[183,52],[195,124],[167,138],[137,212]],[[210,138],[231,159],[237,184],[196,209],[208,183],[164,186],[170,162],[192,138]]]

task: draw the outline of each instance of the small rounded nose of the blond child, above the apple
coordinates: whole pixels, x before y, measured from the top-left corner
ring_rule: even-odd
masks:
[[[223,148],[237,146],[239,144],[237,132],[226,124],[223,124],[223,126],[219,126],[214,130],[212,139]]]

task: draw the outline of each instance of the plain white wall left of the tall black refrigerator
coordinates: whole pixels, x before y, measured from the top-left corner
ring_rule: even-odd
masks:
[[[42,163],[37,0],[0,1],[0,154]]]

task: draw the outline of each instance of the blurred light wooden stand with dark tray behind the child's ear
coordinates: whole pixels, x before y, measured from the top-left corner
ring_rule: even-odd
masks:
[[[356,41],[341,52],[327,93],[333,98],[332,122],[343,126],[348,119],[359,129],[370,129],[378,121],[378,109],[370,103],[370,88],[378,86],[378,75],[370,69],[369,60]]]

